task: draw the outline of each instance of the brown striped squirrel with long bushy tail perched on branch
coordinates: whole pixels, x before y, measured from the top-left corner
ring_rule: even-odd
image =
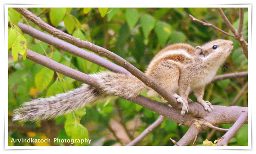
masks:
[[[233,42],[224,39],[216,39],[197,47],[186,43],[172,44],[154,56],[146,69],[146,75],[173,94],[177,102],[182,103],[182,115],[188,113],[188,102],[192,102],[188,98],[191,89],[198,103],[211,112],[212,104],[203,100],[204,88],[232,49]],[[14,110],[12,120],[24,122],[56,118],[85,105],[99,103],[109,96],[132,98],[143,90],[148,90],[148,97],[159,96],[131,74],[105,71],[92,76],[98,79],[101,90],[83,84],[67,93],[26,102]],[[163,98],[162,101],[167,102]]]

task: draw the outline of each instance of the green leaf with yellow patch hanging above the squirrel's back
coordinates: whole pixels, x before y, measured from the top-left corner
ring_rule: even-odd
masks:
[[[166,41],[172,33],[171,26],[169,24],[166,24],[165,22],[157,22],[155,32],[160,45],[164,47]]]

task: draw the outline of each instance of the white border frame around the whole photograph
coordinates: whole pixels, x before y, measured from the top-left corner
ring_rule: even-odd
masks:
[[[5,6],[5,50],[8,51],[8,8],[16,7],[52,7],[67,5],[6,5]],[[5,148],[6,149],[251,149],[251,6],[250,5],[68,5],[72,8],[82,7],[120,7],[120,8],[248,8],[248,146],[8,146],[8,54],[5,53]],[[7,84],[6,84],[7,83]]]

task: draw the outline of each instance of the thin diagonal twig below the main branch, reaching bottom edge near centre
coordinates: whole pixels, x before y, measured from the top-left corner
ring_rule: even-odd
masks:
[[[164,116],[160,115],[158,119],[151,124],[148,128],[146,128],[138,137],[136,137],[132,142],[127,144],[126,146],[135,146],[139,142],[141,142],[152,130],[156,129],[162,122],[164,121]]]

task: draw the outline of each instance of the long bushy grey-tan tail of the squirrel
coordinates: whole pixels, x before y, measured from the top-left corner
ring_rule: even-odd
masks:
[[[101,90],[83,84],[67,93],[26,102],[14,110],[12,120],[35,121],[56,118],[85,105],[100,102],[109,95],[131,98],[138,95],[143,89],[147,89],[146,85],[133,75],[102,72],[92,76],[99,80]]]

